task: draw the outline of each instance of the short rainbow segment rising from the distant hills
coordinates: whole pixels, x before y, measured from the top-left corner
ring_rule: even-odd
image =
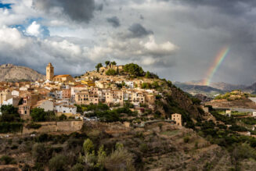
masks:
[[[215,75],[218,67],[222,64],[222,61],[225,59],[225,57],[229,53],[229,47],[222,48],[220,52],[218,52],[218,55],[215,57],[215,62],[213,65],[208,69],[207,71],[207,77],[204,79],[204,85],[210,85],[212,77]]]

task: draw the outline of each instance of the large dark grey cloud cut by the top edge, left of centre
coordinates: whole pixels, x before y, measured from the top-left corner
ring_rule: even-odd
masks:
[[[34,0],[33,5],[36,9],[45,12],[59,7],[63,9],[63,14],[69,16],[71,20],[85,23],[92,19],[96,9],[103,9],[103,5],[97,6],[94,0]]]

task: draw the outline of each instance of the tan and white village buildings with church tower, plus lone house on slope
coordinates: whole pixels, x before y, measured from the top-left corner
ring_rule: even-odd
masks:
[[[80,77],[67,74],[55,75],[54,66],[49,62],[46,66],[45,80],[1,83],[0,105],[13,105],[24,120],[33,119],[32,113],[38,109],[67,118],[103,119],[104,117],[92,116],[92,111],[88,110],[88,105],[103,104],[110,109],[129,106],[128,109],[137,116],[144,112],[155,112],[156,98],[163,94],[149,86],[157,84],[157,81],[152,79],[157,76],[147,72],[143,77],[136,78],[128,72],[128,67],[134,69],[133,72],[140,72],[135,74],[142,75],[140,66],[136,64],[117,66],[116,62],[106,62],[106,66],[100,63],[96,66],[96,70]],[[158,84],[156,87],[159,87]],[[153,117],[153,114],[151,116]],[[166,119],[182,125],[180,114],[176,113]]]

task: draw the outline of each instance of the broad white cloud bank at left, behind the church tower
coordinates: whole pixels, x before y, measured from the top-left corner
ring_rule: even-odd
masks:
[[[85,47],[64,38],[38,39],[27,37],[16,28],[0,28],[0,63],[6,61],[23,66],[33,66],[45,73],[45,65],[52,62],[60,73],[83,73],[92,66],[86,57]]]

